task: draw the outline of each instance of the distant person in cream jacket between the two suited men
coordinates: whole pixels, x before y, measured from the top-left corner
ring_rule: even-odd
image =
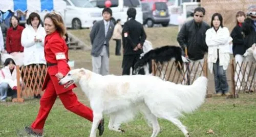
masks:
[[[116,56],[120,56],[120,50],[121,50],[121,39],[122,39],[122,26],[121,26],[121,19],[116,20],[116,25],[114,28],[114,33],[112,38],[116,41]]]

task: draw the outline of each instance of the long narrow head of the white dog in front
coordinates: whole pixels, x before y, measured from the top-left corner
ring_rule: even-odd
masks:
[[[70,85],[74,83],[78,83],[82,76],[86,75],[85,69],[74,69],[69,71],[69,73],[63,77],[60,81],[60,85],[64,85],[65,88],[68,88]]]

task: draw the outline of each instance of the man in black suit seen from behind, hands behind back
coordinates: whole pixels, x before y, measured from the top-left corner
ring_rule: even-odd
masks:
[[[146,34],[142,24],[135,20],[136,9],[129,8],[127,10],[127,16],[129,18],[123,25],[122,40],[123,40],[123,62],[122,75],[130,75],[131,67],[134,69],[134,64],[140,57],[142,51],[142,45],[146,40]],[[139,72],[143,74],[143,72]]]

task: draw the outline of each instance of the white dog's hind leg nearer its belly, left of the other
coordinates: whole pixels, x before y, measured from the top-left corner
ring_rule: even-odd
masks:
[[[150,109],[148,109],[148,107],[146,105],[140,106],[140,110],[143,113],[143,115],[145,116],[148,126],[153,128],[153,133],[152,133],[151,137],[156,137],[158,135],[158,133],[160,132],[160,126],[157,121],[157,117],[151,112]]]

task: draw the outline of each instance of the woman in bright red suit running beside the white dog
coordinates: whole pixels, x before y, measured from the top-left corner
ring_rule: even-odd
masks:
[[[45,89],[45,93],[40,99],[40,108],[35,121],[31,126],[25,127],[25,131],[34,136],[42,136],[45,121],[57,96],[59,96],[65,108],[91,122],[93,121],[92,110],[81,104],[72,91],[76,85],[64,88],[64,86],[58,84],[59,79],[70,71],[67,63],[68,47],[62,38],[66,33],[66,28],[61,16],[53,13],[46,14],[44,27],[47,34],[45,37],[45,58],[48,66],[47,76],[42,86],[42,90]],[[104,131],[103,119],[98,129],[99,135],[102,135]]]

